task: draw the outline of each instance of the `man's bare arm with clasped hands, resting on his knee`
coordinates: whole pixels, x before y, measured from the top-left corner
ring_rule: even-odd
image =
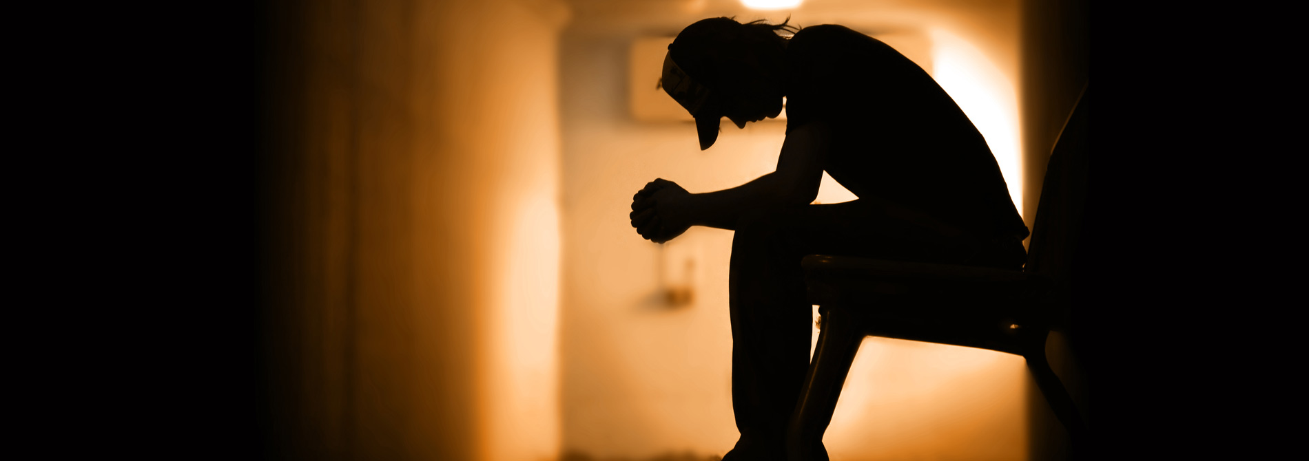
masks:
[[[806,205],[818,196],[830,136],[822,121],[793,129],[781,145],[774,172],[730,189],[689,193],[675,183],[656,179],[634,197],[632,226],[641,236],[662,243],[690,226],[736,230],[746,209]]]

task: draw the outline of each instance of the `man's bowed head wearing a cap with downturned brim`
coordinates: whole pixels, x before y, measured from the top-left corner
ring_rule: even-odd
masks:
[[[781,112],[787,39],[778,30],[797,29],[719,17],[687,26],[668,46],[661,82],[695,116],[700,150],[717,140],[724,116],[745,128]]]

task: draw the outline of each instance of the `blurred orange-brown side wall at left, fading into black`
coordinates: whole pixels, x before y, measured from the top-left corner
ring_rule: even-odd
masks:
[[[565,20],[546,0],[268,5],[270,457],[558,453]]]

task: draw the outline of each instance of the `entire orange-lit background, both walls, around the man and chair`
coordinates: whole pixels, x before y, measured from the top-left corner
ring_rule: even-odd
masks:
[[[279,457],[606,461],[732,447],[733,234],[691,229],[660,247],[627,213],[654,178],[704,192],[772,171],[785,123],[726,124],[700,151],[677,121],[690,116],[654,89],[666,39],[640,37],[800,1],[274,4],[270,63],[284,76],[268,89],[264,315]],[[936,76],[1022,210],[1018,29],[988,21],[1017,4],[810,1],[792,24],[885,38]],[[645,60],[627,51],[656,56],[654,71],[628,67]],[[662,108],[628,104],[628,84]],[[823,175],[818,201],[853,199]],[[1025,380],[1017,357],[869,338],[829,451],[1024,460]]]

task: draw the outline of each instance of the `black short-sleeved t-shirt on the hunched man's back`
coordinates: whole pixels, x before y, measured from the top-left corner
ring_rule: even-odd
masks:
[[[982,133],[918,64],[838,25],[787,46],[787,131],[831,127],[823,170],[859,197],[881,197],[983,239],[1022,239],[1022,223]]]

